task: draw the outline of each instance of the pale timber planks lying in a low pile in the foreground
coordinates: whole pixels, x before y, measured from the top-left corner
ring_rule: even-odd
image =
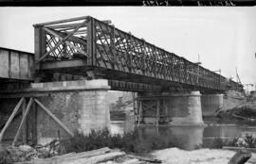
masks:
[[[101,149],[81,152],[81,153],[69,153],[61,156],[52,156],[47,158],[37,158],[26,162],[15,162],[15,164],[150,164],[150,163],[161,163],[160,160],[143,157],[127,155],[124,152],[116,149],[109,149],[104,147]]]

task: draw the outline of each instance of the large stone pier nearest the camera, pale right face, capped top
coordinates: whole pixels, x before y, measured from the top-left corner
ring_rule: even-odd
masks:
[[[110,89],[107,80],[80,80],[32,84],[33,89],[59,90],[49,97],[39,98],[71,131],[88,134],[91,129],[109,128],[110,114],[106,102]],[[68,91],[66,91],[66,90]],[[37,138],[39,143],[51,139],[67,138],[68,134],[46,112],[37,109]]]

